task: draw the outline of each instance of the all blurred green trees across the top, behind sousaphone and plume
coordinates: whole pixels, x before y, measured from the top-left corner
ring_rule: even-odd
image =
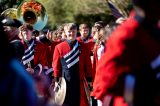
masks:
[[[24,0],[0,0],[0,11],[7,8],[18,7]],[[36,0],[44,5],[47,15],[47,26],[55,29],[57,26],[75,22],[93,25],[95,21],[114,20],[106,0]],[[110,0],[124,13],[132,8],[131,0]]]

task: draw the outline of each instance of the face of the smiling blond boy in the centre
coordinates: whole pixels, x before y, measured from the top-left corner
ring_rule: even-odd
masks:
[[[65,34],[68,40],[74,41],[77,36],[77,29],[66,29]]]

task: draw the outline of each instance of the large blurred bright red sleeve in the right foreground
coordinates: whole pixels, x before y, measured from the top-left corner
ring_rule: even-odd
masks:
[[[113,92],[110,90],[116,86],[119,76],[131,71],[129,61],[132,61],[134,57],[131,57],[131,52],[128,51],[133,49],[132,47],[135,45],[127,45],[126,41],[132,39],[137,25],[137,22],[129,21],[122,28],[117,28],[108,40],[107,50],[98,62],[93,83],[91,95],[97,99],[103,100],[106,94],[112,95]]]

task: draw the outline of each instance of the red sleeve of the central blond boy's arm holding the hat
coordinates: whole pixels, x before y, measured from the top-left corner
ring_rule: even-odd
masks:
[[[54,77],[59,77],[61,74],[61,56],[58,47],[56,46],[53,54],[52,67],[54,70]]]

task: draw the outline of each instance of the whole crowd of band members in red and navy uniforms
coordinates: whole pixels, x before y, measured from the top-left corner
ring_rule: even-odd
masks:
[[[65,23],[46,33],[1,17],[1,103],[58,106],[50,87],[56,92],[63,77],[62,106],[160,106],[160,2],[133,3],[112,25]]]

